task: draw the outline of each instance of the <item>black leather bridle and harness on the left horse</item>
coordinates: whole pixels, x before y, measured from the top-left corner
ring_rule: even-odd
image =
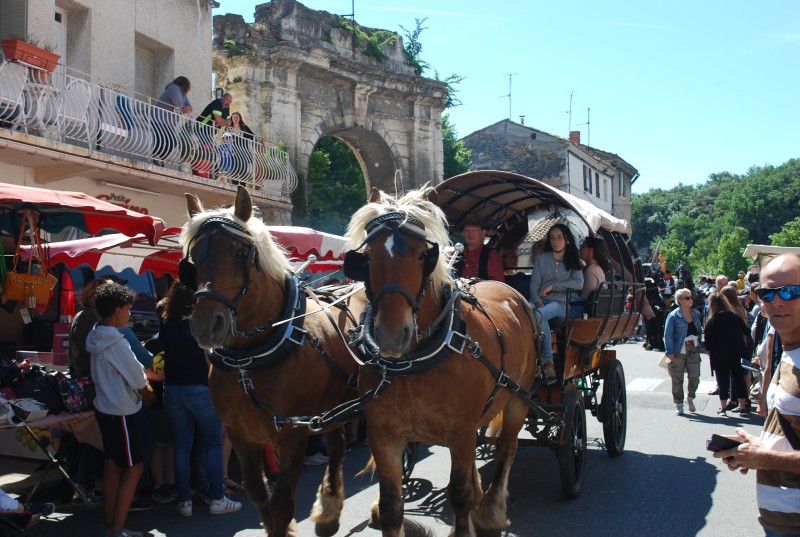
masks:
[[[285,420],[277,409],[275,409],[272,405],[262,401],[258,397],[253,386],[253,381],[248,375],[248,371],[258,371],[267,367],[275,366],[283,362],[290,355],[298,352],[300,348],[307,343],[325,359],[328,367],[334,373],[345,380],[348,389],[355,391],[357,370],[353,373],[348,373],[345,371],[324,349],[320,338],[316,336],[309,336],[309,331],[305,329],[303,325],[307,315],[324,311],[328,319],[331,321],[331,324],[334,326],[336,332],[345,343],[345,347],[349,350],[349,347],[347,347],[347,340],[339,329],[339,326],[336,324],[336,321],[329,310],[330,307],[333,306],[343,307],[340,303],[346,298],[349,298],[355,294],[359,289],[356,288],[356,286],[351,286],[351,292],[344,293],[335,300],[331,298],[333,296],[332,294],[321,293],[323,299],[320,299],[319,294],[315,293],[307,284],[301,282],[296,274],[287,271],[284,280],[284,290],[287,300],[280,320],[273,322],[271,319],[268,319],[265,323],[262,323],[256,327],[240,331],[236,327],[237,306],[239,300],[241,300],[241,298],[245,296],[249,290],[251,282],[251,268],[255,267],[256,270],[260,271],[258,266],[257,248],[247,229],[234,220],[224,217],[212,217],[203,222],[198,229],[197,234],[190,241],[186,256],[180,261],[178,277],[184,285],[195,289],[197,288],[197,269],[194,266],[194,263],[189,260],[189,253],[191,252],[192,245],[197,242],[200,251],[196,257],[199,259],[199,261],[205,259],[206,255],[208,254],[210,234],[214,229],[218,229],[220,232],[246,246],[246,256],[243,256],[245,259],[244,284],[233,299],[230,299],[221,293],[217,293],[209,286],[206,286],[200,291],[195,292],[195,299],[207,297],[221,302],[227,306],[232,319],[231,334],[234,337],[248,337],[265,332],[267,330],[271,330],[271,334],[269,337],[267,337],[267,339],[260,342],[255,348],[233,349],[222,346],[211,349],[208,352],[209,361],[215,367],[223,371],[238,372],[239,382],[242,385],[245,393],[247,393],[247,395],[250,397],[253,404],[259,408],[259,410],[264,412],[265,415],[270,418],[270,421],[275,423],[275,426],[278,429],[280,429],[281,425],[294,422],[291,420]],[[306,297],[314,300],[320,306],[320,309],[310,313],[306,312]],[[346,306],[344,307],[346,308]],[[280,325],[285,326],[281,327]],[[351,356],[356,361],[356,364],[360,363],[358,357],[356,357],[352,352]],[[270,413],[272,414],[271,416],[265,412],[265,408],[269,409]]]

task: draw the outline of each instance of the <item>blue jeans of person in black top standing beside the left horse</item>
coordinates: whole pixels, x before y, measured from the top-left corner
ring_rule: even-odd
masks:
[[[172,428],[178,501],[192,499],[191,458],[195,428],[200,431],[201,445],[206,452],[209,496],[212,500],[222,499],[222,421],[211,404],[208,386],[165,384],[164,410]]]

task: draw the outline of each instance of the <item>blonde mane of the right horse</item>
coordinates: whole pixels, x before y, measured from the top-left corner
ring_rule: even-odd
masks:
[[[348,239],[346,248],[352,250],[361,246],[367,237],[367,224],[376,216],[393,212],[406,214],[420,220],[425,225],[425,235],[428,240],[439,245],[439,260],[431,273],[433,291],[438,293],[444,284],[452,284],[453,278],[447,268],[445,255],[445,250],[451,246],[450,235],[447,232],[447,217],[436,204],[426,199],[432,190],[429,187],[412,190],[400,199],[381,192],[380,203],[367,203],[350,218],[345,233]]]

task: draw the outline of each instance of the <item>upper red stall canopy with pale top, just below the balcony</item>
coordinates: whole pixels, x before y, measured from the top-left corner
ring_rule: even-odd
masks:
[[[160,218],[82,192],[0,183],[0,229],[14,234],[19,229],[24,209],[32,209],[38,228],[48,233],[58,233],[68,227],[90,235],[113,230],[128,237],[141,234],[149,244],[156,244],[166,227]]]

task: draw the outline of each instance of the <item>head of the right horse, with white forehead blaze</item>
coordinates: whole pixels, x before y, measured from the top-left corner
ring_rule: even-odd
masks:
[[[411,350],[418,320],[438,314],[439,290],[451,280],[439,255],[440,245],[450,243],[446,219],[426,192],[414,190],[397,200],[373,190],[347,226],[345,275],[366,283],[373,338],[387,358]]]

